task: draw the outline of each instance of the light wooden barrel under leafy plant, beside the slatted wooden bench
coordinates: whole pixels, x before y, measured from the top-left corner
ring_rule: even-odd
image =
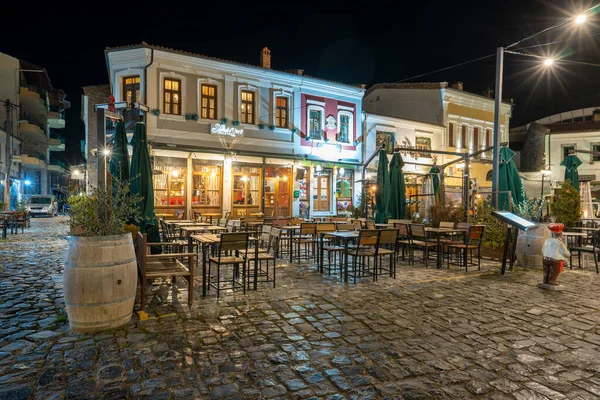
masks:
[[[93,333],[129,322],[137,288],[131,234],[71,236],[63,287],[71,331]]]

